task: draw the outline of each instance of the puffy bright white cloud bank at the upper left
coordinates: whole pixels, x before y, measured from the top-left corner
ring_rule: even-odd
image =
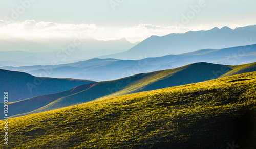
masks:
[[[11,23],[0,27],[0,37],[53,38],[71,37],[79,33],[90,36],[98,30],[102,31],[95,24],[58,24],[54,22],[26,20],[22,23]]]

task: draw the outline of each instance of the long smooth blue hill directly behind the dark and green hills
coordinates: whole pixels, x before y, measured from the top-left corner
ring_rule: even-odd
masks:
[[[53,71],[49,74],[49,77],[109,81],[139,73],[178,68],[197,62],[240,65],[256,62],[255,57],[256,44],[224,49],[202,49],[180,55],[142,58],[141,60],[95,58],[55,66],[3,67],[2,69],[21,71],[33,76],[40,76],[40,73],[44,73],[49,68],[52,68]]]

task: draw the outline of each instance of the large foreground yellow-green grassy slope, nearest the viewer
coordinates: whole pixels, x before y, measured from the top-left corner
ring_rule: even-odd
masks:
[[[11,118],[8,147],[253,149],[255,85],[249,72]]]

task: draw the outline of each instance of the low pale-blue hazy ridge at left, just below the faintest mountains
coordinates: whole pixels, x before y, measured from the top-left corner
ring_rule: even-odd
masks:
[[[33,66],[33,65],[51,65],[67,64],[87,59],[96,56],[114,54],[123,52],[125,49],[91,49],[82,51],[75,49],[73,52],[69,51],[54,51],[54,52],[26,52],[26,51],[0,51],[0,66]]]

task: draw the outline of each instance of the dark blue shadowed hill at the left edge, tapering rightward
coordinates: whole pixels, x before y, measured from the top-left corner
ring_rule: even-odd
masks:
[[[93,83],[89,80],[34,77],[30,74],[0,69],[0,92],[9,91],[10,102],[69,90]]]

